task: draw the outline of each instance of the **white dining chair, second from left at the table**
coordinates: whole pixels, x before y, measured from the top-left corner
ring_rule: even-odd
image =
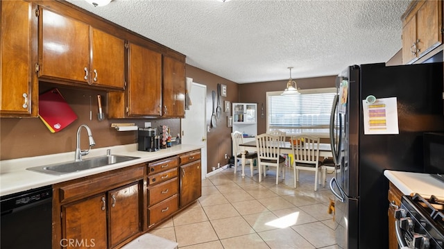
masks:
[[[257,168],[259,182],[262,182],[262,171],[266,176],[266,166],[276,167],[276,184],[279,182],[279,171],[282,170],[282,179],[285,179],[285,157],[280,155],[280,137],[271,134],[256,136]]]

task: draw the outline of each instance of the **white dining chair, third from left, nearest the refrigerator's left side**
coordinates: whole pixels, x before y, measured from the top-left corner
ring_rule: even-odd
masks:
[[[318,183],[321,183],[319,171],[322,166],[319,162],[319,138],[310,135],[292,136],[290,138],[291,149],[293,151],[293,176],[294,187],[299,181],[299,171],[314,171],[314,191],[318,190]]]

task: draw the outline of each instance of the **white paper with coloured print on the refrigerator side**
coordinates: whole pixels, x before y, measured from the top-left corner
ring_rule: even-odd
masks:
[[[377,98],[374,103],[362,101],[364,134],[399,134],[397,98]]]

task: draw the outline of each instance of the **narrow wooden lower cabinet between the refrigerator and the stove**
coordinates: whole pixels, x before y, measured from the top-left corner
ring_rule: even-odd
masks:
[[[388,248],[398,249],[398,240],[395,230],[395,210],[401,206],[402,192],[390,182],[388,187]]]

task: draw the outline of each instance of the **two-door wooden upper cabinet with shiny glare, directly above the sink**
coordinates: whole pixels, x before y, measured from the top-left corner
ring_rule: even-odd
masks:
[[[39,77],[124,89],[123,40],[44,8],[40,18]]]

